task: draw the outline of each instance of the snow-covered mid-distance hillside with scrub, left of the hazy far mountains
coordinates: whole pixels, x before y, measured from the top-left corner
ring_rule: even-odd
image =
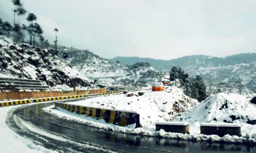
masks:
[[[105,60],[88,50],[59,46],[59,56],[66,52],[68,63],[91,80],[98,83],[120,85],[145,85],[157,82],[161,75],[149,63],[139,62],[133,65],[123,65],[118,62]]]

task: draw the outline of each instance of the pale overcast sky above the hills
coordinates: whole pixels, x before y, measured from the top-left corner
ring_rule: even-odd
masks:
[[[43,36],[103,58],[256,53],[256,0],[21,0]],[[13,23],[14,5],[0,0]],[[16,22],[26,23],[27,14]]]

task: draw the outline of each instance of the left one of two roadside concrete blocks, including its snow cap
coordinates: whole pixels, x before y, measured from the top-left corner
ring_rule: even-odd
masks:
[[[156,122],[156,131],[159,131],[160,129],[165,130],[165,132],[189,134],[189,123],[188,122]]]

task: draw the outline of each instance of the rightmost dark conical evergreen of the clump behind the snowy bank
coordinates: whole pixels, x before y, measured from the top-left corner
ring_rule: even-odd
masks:
[[[206,85],[203,79],[196,75],[194,81],[191,84],[191,97],[197,99],[199,102],[206,98]]]

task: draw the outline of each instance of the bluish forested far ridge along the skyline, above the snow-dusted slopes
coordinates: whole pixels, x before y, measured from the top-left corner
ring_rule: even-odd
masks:
[[[256,60],[256,53],[242,53],[227,57],[212,57],[206,55],[184,56],[172,60],[157,60],[152,58],[140,57],[114,57],[110,61],[120,61],[122,64],[131,65],[136,62],[149,62],[157,70],[168,70],[173,66],[182,67],[183,69],[198,69],[200,67],[223,67],[237,65],[242,63],[252,63]]]

